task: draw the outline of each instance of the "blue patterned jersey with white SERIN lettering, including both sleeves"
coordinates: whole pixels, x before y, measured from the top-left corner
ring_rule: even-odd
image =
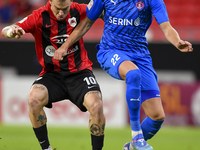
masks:
[[[163,0],[91,0],[87,17],[96,20],[103,10],[105,25],[100,50],[149,54],[145,34],[152,16],[158,24],[169,21]]]

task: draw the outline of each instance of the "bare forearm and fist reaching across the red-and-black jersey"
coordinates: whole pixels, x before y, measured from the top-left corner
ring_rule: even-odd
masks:
[[[85,33],[87,33],[87,31],[92,27],[93,23],[94,21],[90,20],[88,17],[82,20],[70,34],[67,41],[65,41],[65,43],[55,51],[54,59],[59,61],[63,60],[63,57],[67,54],[68,48],[77,42],[81,37],[83,37]]]

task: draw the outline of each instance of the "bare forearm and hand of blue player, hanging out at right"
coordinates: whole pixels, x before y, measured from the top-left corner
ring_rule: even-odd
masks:
[[[164,32],[166,39],[172,43],[181,52],[192,52],[192,44],[188,41],[180,39],[178,32],[171,26],[169,21],[160,24],[160,28]]]

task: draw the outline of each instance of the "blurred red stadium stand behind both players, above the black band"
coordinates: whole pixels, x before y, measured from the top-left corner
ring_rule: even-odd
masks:
[[[49,0],[0,0],[0,29],[5,25],[20,21],[33,10],[46,5]],[[88,4],[90,0],[73,0]],[[183,39],[200,41],[200,0],[163,0],[167,7],[171,25],[179,32]],[[100,39],[103,22],[96,21],[93,25],[94,33],[88,35],[89,40]],[[101,30],[101,31],[100,31]],[[96,31],[99,31],[98,35]],[[148,33],[148,41],[165,41],[158,23],[153,19]]]

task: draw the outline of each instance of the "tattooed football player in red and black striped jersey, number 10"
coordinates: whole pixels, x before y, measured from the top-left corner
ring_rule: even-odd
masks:
[[[64,99],[69,99],[83,112],[89,111],[92,149],[103,147],[105,117],[101,91],[83,39],[70,47],[62,61],[53,58],[54,52],[86,17],[86,7],[72,0],[49,0],[46,6],[2,30],[7,38],[31,33],[35,39],[38,61],[43,69],[32,85],[28,105],[29,118],[42,150],[51,150],[43,107],[52,108],[52,103]]]

